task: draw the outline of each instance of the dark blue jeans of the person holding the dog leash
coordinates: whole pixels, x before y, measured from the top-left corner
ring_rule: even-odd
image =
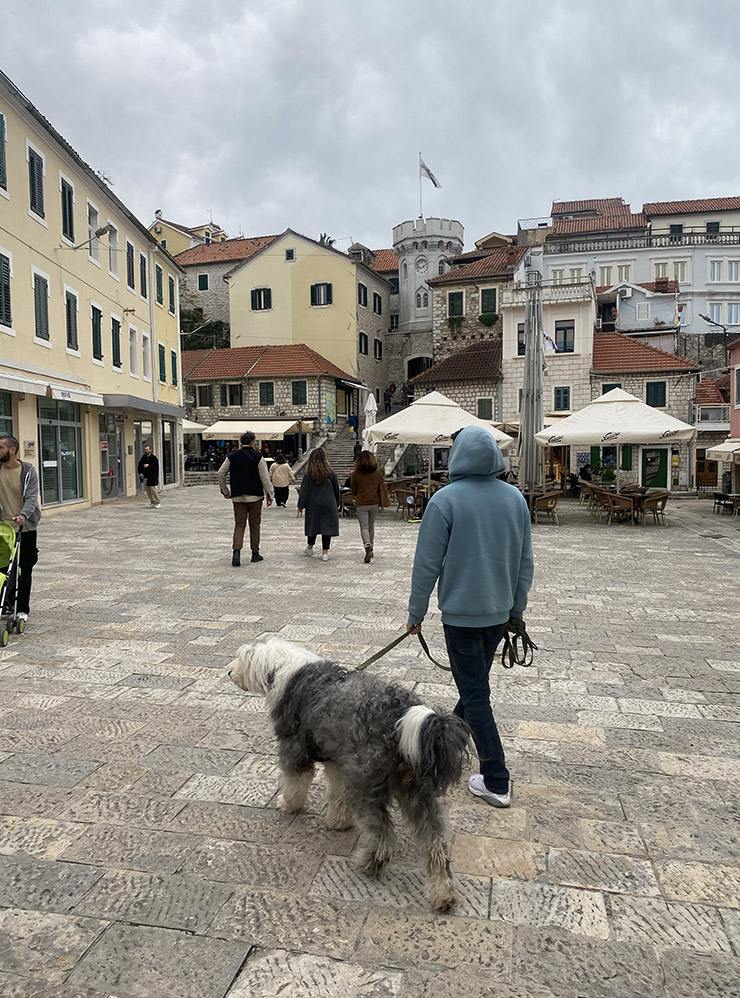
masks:
[[[486,787],[495,794],[509,789],[504,747],[491,710],[488,674],[506,624],[453,627],[444,624],[447,654],[460,699],[455,713],[470,725]]]

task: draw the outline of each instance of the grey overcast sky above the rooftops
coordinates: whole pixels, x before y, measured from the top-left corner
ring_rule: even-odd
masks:
[[[4,0],[0,67],[145,223],[466,246],[740,193],[737,0]]]

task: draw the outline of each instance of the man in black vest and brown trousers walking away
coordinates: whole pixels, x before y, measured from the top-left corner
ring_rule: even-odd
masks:
[[[243,433],[239,439],[241,447],[231,451],[218,469],[218,487],[224,499],[234,504],[234,540],[231,564],[241,565],[241,550],[244,544],[244,529],[249,520],[249,546],[252,561],[263,561],[260,554],[260,524],[262,522],[262,501],[267,496],[267,505],[272,506],[272,483],[267,473],[267,465],[255,448],[255,436],[251,431]],[[228,475],[229,484],[226,484]]]

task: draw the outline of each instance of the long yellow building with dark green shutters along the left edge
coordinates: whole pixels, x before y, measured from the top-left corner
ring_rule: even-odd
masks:
[[[180,478],[181,268],[0,73],[0,433],[45,509]]]

